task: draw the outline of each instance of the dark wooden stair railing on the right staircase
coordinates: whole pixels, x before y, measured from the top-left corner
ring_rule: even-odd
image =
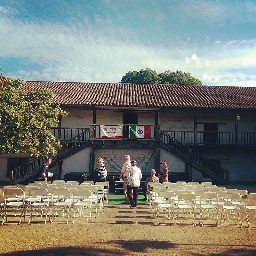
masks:
[[[159,130],[159,138],[160,138],[160,141],[162,141],[163,143],[176,149],[184,156],[187,156],[189,159],[189,162],[194,161],[196,164],[203,166],[208,171],[212,172],[213,174],[219,176],[221,179],[225,180],[226,183],[228,182],[229,180],[228,176],[230,173],[228,170],[220,167],[218,164],[215,164],[211,160],[205,158],[195,150],[182,144],[180,141],[174,139],[173,137],[163,132],[162,130]],[[226,174],[225,177],[224,177],[224,174]]]

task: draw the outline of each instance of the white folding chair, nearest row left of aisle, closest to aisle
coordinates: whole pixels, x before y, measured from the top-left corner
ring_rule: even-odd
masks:
[[[78,198],[77,201],[73,201],[74,206],[74,218],[73,223],[76,221],[76,217],[84,217],[85,213],[89,212],[89,216],[87,218],[88,221],[91,223],[92,219],[92,192],[90,190],[77,190],[73,192],[73,198]],[[84,201],[87,199],[87,201]],[[90,208],[90,209],[89,209]],[[80,212],[80,214],[79,214]]]

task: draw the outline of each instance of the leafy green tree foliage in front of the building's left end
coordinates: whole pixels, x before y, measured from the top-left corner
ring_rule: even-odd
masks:
[[[53,93],[23,92],[24,80],[0,76],[0,154],[55,155],[61,147],[52,135],[58,117],[68,113],[51,102]]]

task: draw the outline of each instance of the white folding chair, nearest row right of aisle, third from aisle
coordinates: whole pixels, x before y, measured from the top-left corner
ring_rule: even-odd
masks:
[[[201,222],[202,227],[204,226],[203,220],[215,220],[214,213],[216,216],[216,225],[219,227],[219,221],[218,221],[218,202],[219,202],[219,194],[216,192],[203,192],[201,194],[201,203],[200,203],[200,218],[199,218],[199,224]],[[217,202],[217,204],[212,204],[212,202]],[[208,202],[205,204],[205,202]],[[207,217],[204,216],[204,211],[207,211]]]

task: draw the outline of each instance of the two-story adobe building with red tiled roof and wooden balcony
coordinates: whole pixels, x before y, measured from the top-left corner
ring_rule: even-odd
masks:
[[[256,87],[26,81],[24,90],[40,88],[69,112],[52,128],[63,143],[51,169],[58,178],[91,172],[99,156],[108,174],[119,173],[129,154],[142,172],[161,172],[165,160],[171,172],[193,180],[256,180]],[[150,138],[129,138],[129,124],[150,125]],[[122,125],[122,138],[102,138],[100,125]],[[25,181],[40,164],[2,155],[0,180]]]

